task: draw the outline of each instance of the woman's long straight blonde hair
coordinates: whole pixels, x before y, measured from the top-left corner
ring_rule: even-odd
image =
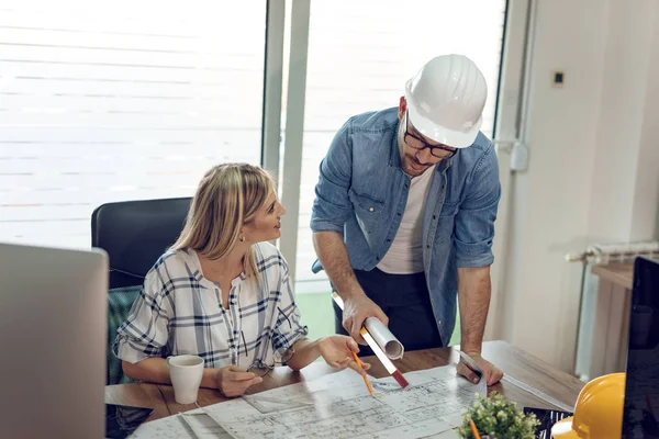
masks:
[[[222,258],[233,250],[241,227],[254,219],[272,192],[272,177],[258,166],[215,166],[201,179],[186,226],[171,249],[190,248],[206,259]],[[253,247],[245,254],[243,267],[248,278],[258,278]]]

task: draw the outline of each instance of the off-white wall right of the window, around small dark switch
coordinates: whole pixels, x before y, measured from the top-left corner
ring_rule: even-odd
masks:
[[[538,0],[513,177],[502,338],[571,371],[581,266],[567,252],[651,238],[659,200],[656,0]],[[565,70],[562,88],[552,70]]]

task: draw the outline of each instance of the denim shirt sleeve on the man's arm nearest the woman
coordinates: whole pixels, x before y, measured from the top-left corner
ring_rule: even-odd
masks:
[[[348,198],[353,169],[351,119],[334,136],[327,155],[321,161],[315,200],[311,213],[312,232],[344,233],[344,225],[353,214]]]

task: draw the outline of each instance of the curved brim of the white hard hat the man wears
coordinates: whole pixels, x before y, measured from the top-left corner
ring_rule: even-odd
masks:
[[[410,122],[412,125],[414,125],[416,131],[431,140],[435,140],[451,148],[467,148],[473,145],[473,142],[476,142],[476,137],[478,136],[480,127],[483,123],[482,115],[469,131],[448,130],[421,115],[417,108],[418,103],[415,102],[411,95],[411,87],[412,80],[409,80],[405,85],[405,101],[407,102]]]

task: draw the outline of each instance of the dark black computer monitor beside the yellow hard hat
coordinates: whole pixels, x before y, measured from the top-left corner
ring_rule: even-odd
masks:
[[[659,438],[659,261],[634,263],[624,439]]]

